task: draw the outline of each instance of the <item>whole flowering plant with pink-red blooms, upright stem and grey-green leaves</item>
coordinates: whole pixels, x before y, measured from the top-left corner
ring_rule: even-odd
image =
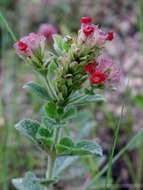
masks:
[[[66,166],[79,156],[102,156],[102,148],[95,141],[73,140],[66,135],[68,122],[77,106],[103,101],[98,89],[112,88],[120,81],[120,70],[103,55],[105,43],[113,33],[104,33],[92,24],[90,17],[81,18],[77,37],[53,35],[51,52],[41,33],[30,33],[14,45],[17,53],[42,76],[45,85],[28,82],[24,88],[40,96],[43,106],[41,121],[24,119],[16,129],[32,140],[47,155],[45,178],[27,172],[23,178],[13,179],[19,190],[44,190],[60,179],[57,166]],[[68,164],[67,164],[68,163]]]

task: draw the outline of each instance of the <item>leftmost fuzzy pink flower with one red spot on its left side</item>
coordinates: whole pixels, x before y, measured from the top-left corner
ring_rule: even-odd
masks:
[[[44,43],[44,36],[36,33],[30,33],[28,36],[24,36],[17,41],[14,44],[14,47],[18,54],[31,57],[37,50],[42,49]]]

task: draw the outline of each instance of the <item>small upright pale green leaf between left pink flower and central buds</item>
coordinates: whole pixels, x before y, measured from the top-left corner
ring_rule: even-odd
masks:
[[[55,51],[59,54],[63,54],[63,38],[59,34],[53,35],[53,40],[54,40],[54,49]]]

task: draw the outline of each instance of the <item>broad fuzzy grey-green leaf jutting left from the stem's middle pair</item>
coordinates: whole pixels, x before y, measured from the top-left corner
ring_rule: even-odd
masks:
[[[20,131],[23,135],[31,139],[36,140],[36,133],[40,127],[40,123],[32,121],[30,119],[24,119],[15,125],[15,128]]]

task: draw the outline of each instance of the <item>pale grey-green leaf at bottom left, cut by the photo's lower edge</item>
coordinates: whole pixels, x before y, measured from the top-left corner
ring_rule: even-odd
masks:
[[[12,180],[13,185],[17,190],[44,190],[35,174],[27,172],[24,178],[16,178]]]

